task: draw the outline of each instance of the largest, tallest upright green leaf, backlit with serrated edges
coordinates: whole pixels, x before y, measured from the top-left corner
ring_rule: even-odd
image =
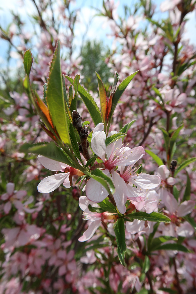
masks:
[[[59,136],[64,143],[71,145],[65,113],[65,100],[63,96],[59,41],[50,66],[46,101],[53,125]]]

